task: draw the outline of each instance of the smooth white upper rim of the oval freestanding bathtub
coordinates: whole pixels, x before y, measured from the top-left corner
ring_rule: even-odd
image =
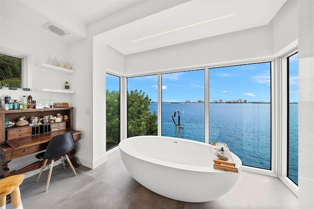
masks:
[[[133,150],[130,150],[126,146],[126,143],[128,140],[132,140],[132,139],[136,139],[136,138],[144,138],[144,137],[149,137],[149,138],[160,138],[160,137],[162,137],[162,138],[166,138],[169,140],[183,141],[183,142],[187,142],[187,143],[197,143],[197,144],[200,144],[201,146],[211,147],[210,144],[206,144],[204,142],[199,142],[199,141],[193,141],[190,139],[175,138],[175,137],[169,137],[169,136],[144,135],[144,136],[133,136],[133,137],[129,137],[129,138],[122,140],[119,143],[120,152],[122,151],[131,157],[135,157],[135,158],[140,159],[140,160],[148,161],[148,162],[153,163],[153,164],[162,165],[162,166],[166,166],[166,167],[170,167],[170,168],[176,168],[176,169],[180,169],[180,170],[195,171],[195,172],[206,172],[206,173],[207,172],[217,172],[217,173],[229,172],[229,171],[214,169],[213,168],[213,161],[211,162],[210,166],[200,166],[200,165],[176,163],[176,162],[157,159],[154,157],[149,157],[149,156],[140,154],[138,152],[134,152]],[[239,174],[241,172],[242,162],[241,162],[240,158],[237,157],[234,153],[231,152],[231,155],[232,155],[233,159],[235,160],[236,168],[238,169],[237,174]]]

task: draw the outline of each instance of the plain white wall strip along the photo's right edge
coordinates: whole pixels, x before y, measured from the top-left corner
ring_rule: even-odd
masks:
[[[299,209],[314,207],[314,1],[298,5],[299,36]]]

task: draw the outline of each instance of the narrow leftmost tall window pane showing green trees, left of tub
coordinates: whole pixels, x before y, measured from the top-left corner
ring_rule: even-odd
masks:
[[[106,150],[120,143],[120,78],[106,74]]]

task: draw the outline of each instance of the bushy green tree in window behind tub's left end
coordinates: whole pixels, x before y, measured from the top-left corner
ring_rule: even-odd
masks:
[[[128,137],[157,135],[157,114],[150,112],[151,99],[142,90],[128,92]]]

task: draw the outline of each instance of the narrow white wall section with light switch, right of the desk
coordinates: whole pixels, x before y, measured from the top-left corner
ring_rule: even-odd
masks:
[[[75,107],[74,129],[81,131],[81,140],[77,142],[76,157],[78,163],[93,168],[93,42],[89,38],[70,47],[71,60],[75,63],[76,74],[72,75],[72,88],[76,93],[71,102]],[[86,109],[87,108],[87,109]],[[88,110],[89,110],[89,114]]]

